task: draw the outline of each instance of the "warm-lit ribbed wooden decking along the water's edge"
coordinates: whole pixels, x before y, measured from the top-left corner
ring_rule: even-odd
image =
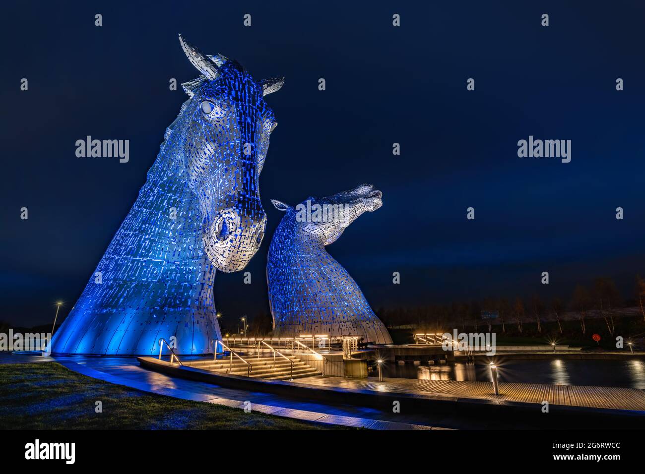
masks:
[[[489,399],[539,404],[546,400],[550,404],[557,405],[645,411],[645,390],[637,388],[501,382],[499,384],[500,395],[494,395],[493,385],[490,382],[388,378],[379,382],[379,379],[375,377],[368,379],[308,377],[299,379],[298,382],[358,390],[440,395],[460,399]]]

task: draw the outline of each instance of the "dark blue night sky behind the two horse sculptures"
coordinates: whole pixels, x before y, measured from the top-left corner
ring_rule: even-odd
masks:
[[[268,312],[266,253],[283,216],[270,199],[361,183],[383,206],[328,251],[375,309],[568,297],[599,276],[633,296],[645,273],[644,3],[112,4],[3,6],[0,320],[50,322],[55,300],[66,315],[79,297],[187,99],[169,79],[197,77],[178,33],[257,80],[286,77],[267,96],[279,125],[260,178],[266,236],[251,285],[217,275],[225,319]],[[86,135],[129,139],[129,163],[76,157]],[[529,135],[570,139],[571,163],[519,158]]]

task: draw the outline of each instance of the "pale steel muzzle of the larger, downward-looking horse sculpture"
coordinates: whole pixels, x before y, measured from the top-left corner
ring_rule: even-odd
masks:
[[[265,227],[264,212],[253,219],[235,208],[224,209],[204,235],[208,259],[221,272],[242,270],[260,248]]]

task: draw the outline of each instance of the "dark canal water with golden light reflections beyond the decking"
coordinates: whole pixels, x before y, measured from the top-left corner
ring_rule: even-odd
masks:
[[[597,385],[645,389],[645,360],[506,359],[498,363],[500,382]],[[415,366],[383,364],[383,377],[490,382],[488,362]],[[377,375],[374,369],[372,377]]]

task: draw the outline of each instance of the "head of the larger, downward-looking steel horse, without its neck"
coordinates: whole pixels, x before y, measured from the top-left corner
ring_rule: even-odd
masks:
[[[181,35],[179,41],[202,74],[182,84],[190,95],[181,126],[188,186],[199,199],[208,258],[217,270],[236,272],[264,236],[258,180],[277,125],[264,95],[284,79],[255,81],[237,61],[204,55]]]

